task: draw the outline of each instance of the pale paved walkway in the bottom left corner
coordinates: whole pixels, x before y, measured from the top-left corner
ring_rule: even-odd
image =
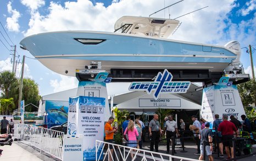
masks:
[[[26,151],[26,149],[20,147],[17,143],[13,142],[12,146],[5,145],[1,146],[0,149],[3,150],[0,160],[4,161],[40,161],[42,159],[38,158],[35,153]]]

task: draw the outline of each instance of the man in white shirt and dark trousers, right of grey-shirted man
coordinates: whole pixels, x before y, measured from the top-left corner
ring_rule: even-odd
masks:
[[[168,117],[168,119],[169,120],[166,120],[165,126],[164,126],[164,134],[165,134],[165,131],[166,131],[166,146],[167,146],[167,152],[166,153],[170,152],[171,137],[176,137],[176,134],[178,136],[180,136],[179,132],[178,132],[178,129],[177,129],[177,124],[176,124],[175,120],[173,120],[173,116],[170,115]],[[175,149],[174,149],[174,153],[176,153]]]

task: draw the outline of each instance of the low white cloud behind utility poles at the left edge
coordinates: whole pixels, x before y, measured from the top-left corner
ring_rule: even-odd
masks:
[[[20,78],[21,64],[16,66],[16,77]],[[13,64],[10,58],[0,61],[0,72],[2,71],[13,71]],[[24,78],[32,78],[29,66],[25,63],[24,65]]]

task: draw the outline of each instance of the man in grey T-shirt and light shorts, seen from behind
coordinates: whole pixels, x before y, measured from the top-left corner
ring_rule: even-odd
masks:
[[[200,134],[199,134],[199,139],[201,140],[199,160],[203,160],[203,158],[204,158],[205,154],[204,154],[204,145],[203,145],[203,143],[205,142],[206,143],[206,146],[205,146],[206,155],[209,157],[210,161],[213,161],[213,156],[212,156],[212,152],[213,152],[212,130],[209,129],[209,127],[210,127],[209,122],[205,122],[204,126],[205,126],[205,128],[202,129]]]

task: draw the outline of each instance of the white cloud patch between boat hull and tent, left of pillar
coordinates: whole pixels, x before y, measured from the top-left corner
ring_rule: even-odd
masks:
[[[61,80],[58,80],[58,79],[50,80],[50,85],[51,87],[53,87],[54,93],[77,87],[78,80],[75,77],[68,77],[63,75],[59,75],[59,76]]]

